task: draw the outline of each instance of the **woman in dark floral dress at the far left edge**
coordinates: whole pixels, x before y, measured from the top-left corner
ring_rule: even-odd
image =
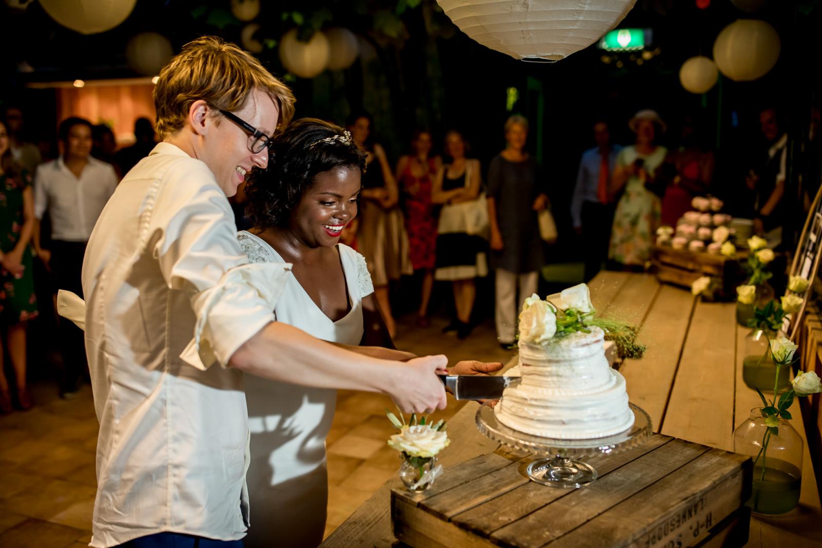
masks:
[[[12,360],[17,405],[29,409],[25,385],[25,327],[37,317],[35,281],[29,242],[35,223],[31,176],[12,156],[7,123],[0,120],[0,324],[6,340],[0,348],[0,412],[12,411],[12,396],[3,367],[3,350]]]

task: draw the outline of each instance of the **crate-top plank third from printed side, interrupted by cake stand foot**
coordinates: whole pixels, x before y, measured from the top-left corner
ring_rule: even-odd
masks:
[[[671,441],[672,438],[654,434],[644,445],[611,455],[598,455],[584,460],[589,462],[589,464],[598,471],[600,478],[602,478],[609,472],[625,465],[627,462],[631,462],[635,458],[662,447]],[[551,488],[529,481],[521,487],[511,490],[488,503],[478,504],[472,509],[458,513],[451,518],[451,521],[460,527],[468,528],[479,534],[490,535],[500,527],[515,522],[524,515],[543,508],[546,504],[569,493],[569,490]]]

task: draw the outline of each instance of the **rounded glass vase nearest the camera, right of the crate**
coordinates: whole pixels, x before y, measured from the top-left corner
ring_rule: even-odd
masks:
[[[790,421],[779,419],[778,434],[768,434],[762,407],[733,431],[733,449],[754,460],[753,492],[747,505],[758,513],[787,513],[799,504],[802,439]],[[764,442],[767,448],[763,450]]]

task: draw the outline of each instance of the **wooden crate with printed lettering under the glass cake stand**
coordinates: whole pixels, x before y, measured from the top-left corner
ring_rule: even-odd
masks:
[[[531,457],[496,453],[451,467],[425,493],[391,490],[395,537],[446,546],[743,546],[750,457],[654,434],[645,444],[585,459],[600,476],[584,489],[529,481]]]

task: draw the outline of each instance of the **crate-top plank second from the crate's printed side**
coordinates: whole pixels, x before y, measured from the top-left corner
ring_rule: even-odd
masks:
[[[631,495],[685,466],[710,448],[674,439],[656,451],[627,463],[585,489],[548,504],[536,512],[494,532],[492,538],[502,543],[543,546],[606,512]],[[589,541],[596,537],[590,537]]]

